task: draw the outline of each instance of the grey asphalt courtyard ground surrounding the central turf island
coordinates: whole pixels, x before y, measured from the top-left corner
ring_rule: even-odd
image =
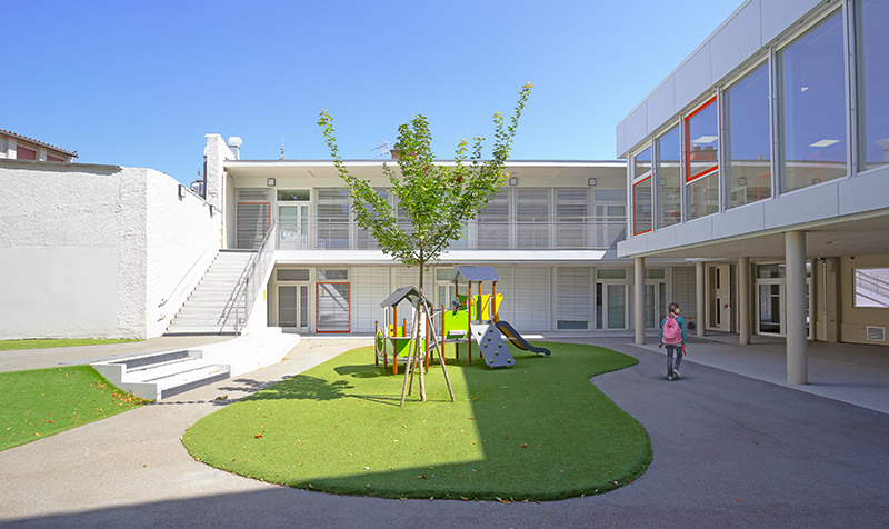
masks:
[[[626,337],[595,342],[639,359],[591,381],[645,426],[653,448],[643,476],[605,495],[540,503],[342,497],[194,461],[180,438],[198,419],[370,343],[309,338],[270,368],[0,452],[0,525],[889,527],[889,415],[691,359],[668,382],[657,350]]]

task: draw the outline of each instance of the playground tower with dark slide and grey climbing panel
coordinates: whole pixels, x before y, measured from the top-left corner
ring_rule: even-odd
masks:
[[[459,293],[461,279],[467,282],[466,296]],[[466,343],[467,361],[472,363],[472,343],[475,342],[488,367],[512,367],[516,365],[516,359],[512,358],[509,348],[503,342],[502,333],[519,349],[538,355],[550,355],[549,349],[531,346],[511,325],[500,321],[498,309],[503,300],[503,295],[497,293],[497,281],[499,280],[500,276],[491,267],[457,267],[453,277],[453,290],[457,296],[455,307],[451,310],[447,310],[443,306],[441,308],[442,351],[447,342],[455,343],[456,356],[459,358],[459,345]],[[472,295],[473,281],[478,287],[477,296]],[[483,281],[491,281],[490,295],[481,293]]]

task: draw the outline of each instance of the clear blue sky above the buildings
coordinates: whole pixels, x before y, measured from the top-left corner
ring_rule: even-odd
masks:
[[[526,82],[512,159],[613,159],[615,126],[741,0],[3,3],[0,128],[188,183],[211,132],[328,159],[321,109],[343,158],[417,113],[450,158]]]

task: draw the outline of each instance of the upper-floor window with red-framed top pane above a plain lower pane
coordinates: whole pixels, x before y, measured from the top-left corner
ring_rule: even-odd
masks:
[[[688,218],[719,211],[719,112],[716,96],[686,117]]]

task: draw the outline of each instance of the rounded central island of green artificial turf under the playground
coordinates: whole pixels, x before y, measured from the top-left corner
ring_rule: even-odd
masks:
[[[182,441],[213,467],[336,493],[555,500],[636,479],[651,461],[648,433],[589,378],[637,360],[547,347],[549,358],[512,349],[509,369],[449,361],[456,402],[432,365],[429,400],[414,386],[403,408],[403,377],[354,349],[204,417]]]

